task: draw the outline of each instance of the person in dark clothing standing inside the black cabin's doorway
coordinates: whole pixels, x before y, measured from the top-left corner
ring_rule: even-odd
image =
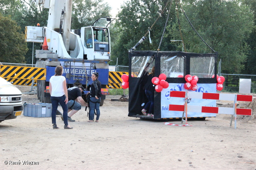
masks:
[[[152,78],[155,76],[155,66],[153,66],[151,73],[148,75],[148,80],[144,86],[145,94],[148,98],[148,103],[145,105],[144,109],[142,109],[142,113],[144,115],[146,114],[146,111],[148,110],[148,117],[154,116],[152,113],[154,111],[154,84],[152,83]]]

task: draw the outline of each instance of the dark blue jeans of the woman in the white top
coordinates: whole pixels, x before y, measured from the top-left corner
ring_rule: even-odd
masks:
[[[66,96],[63,95],[61,97],[54,97],[51,96],[51,101],[52,101],[52,124],[56,124],[56,112],[58,109],[58,104],[63,109],[63,119],[64,119],[64,124],[68,125],[68,106],[65,103]]]

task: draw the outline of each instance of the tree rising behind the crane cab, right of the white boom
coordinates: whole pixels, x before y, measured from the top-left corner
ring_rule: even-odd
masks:
[[[90,26],[100,17],[110,16],[111,7],[103,0],[73,0],[72,29]]]

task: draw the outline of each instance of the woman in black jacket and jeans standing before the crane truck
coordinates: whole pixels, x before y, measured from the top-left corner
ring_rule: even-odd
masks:
[[[94,109],[96,109],[96,122],[99,122],[100,117],[100,96],[101,96],[101,83],[98,80],[98,72],[92,73],[92,86],[90,87],[90,114],[89,121],[93,122]]]

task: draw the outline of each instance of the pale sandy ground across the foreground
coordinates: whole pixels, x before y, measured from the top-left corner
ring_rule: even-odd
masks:
[[[74,129],[52,129],[50,117],[26,117],[0,123],[0,169],[88,170],[255,170],[256,120],[230,115],[190,121],[190,127],[128,117],[128,102],[100,107],[100,122],[88,123],[85,107],[69,122]],[[36,95],[24,102],[39,103]],[[229,104],[228,104],[229,105]],[[223,106],[222,106],[223,107]],[[60,109],[61,110],[61,109]],[[181,124],[180,121],[168,121]],[[4,161],[8,161],[5,164]],[[11,164],[12,161],[20,164]],[[24,164],[37,161],[36,165]],[[15,163],[15,162],[12,162]]]

